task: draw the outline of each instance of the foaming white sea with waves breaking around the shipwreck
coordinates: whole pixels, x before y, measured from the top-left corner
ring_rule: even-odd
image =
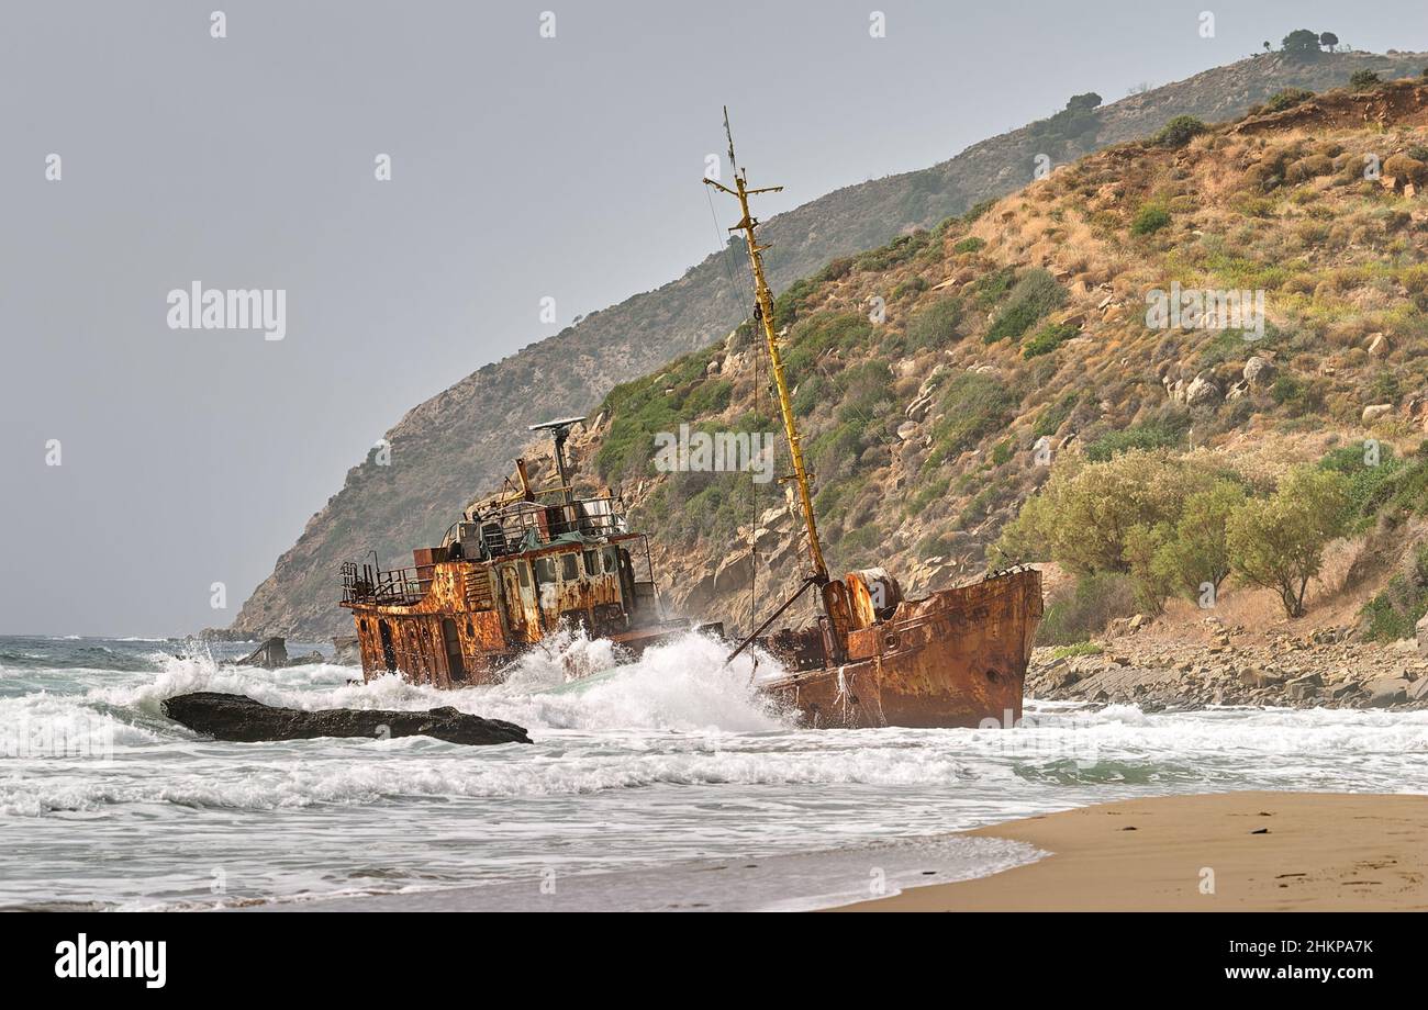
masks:
[[[440,692],[253,643],[0,638],[0,909],[795,910],[1045,853],[957,835],[1090,803],[1241,789],[1428,792],[1428,712],[1027,703],[987,729],[801,729],[775,668],[690,635],[638,660],[560,635]],[[441,705],[534,745],[221,743],[164,698]]]

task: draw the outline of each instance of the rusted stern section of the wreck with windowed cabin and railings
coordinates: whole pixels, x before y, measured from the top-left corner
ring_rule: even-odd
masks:
[[[564,469],[564,468],[563,468]],[[561,628],[583,626],[631,652],[688,622],[664,621],[650,548],[628,529],[621,502],[575,498],[568,485],[474,505],[440,546],[413,565],[376,556],[341,568],[363,676],[460,688],[500,680],[517,655]],[[544,499],[544,501],[543,501]]]

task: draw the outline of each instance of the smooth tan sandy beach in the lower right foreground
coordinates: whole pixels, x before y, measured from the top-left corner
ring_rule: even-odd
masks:
[[[1051,856],[838,912],[1428,909],[1428,796],[1217,793],[1104,803],[968,832]]]

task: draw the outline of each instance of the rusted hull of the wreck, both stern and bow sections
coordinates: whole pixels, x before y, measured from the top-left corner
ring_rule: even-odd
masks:
[[[398,673],[436,688],[500,682],[504,666],[548,631],[538,611],[518,612],[518,582],[513,602],[503,603],[503,593],[490,591],[491,575],[483,566],[434,563],[420,601],[351,606],[364,679]],[[1040,572],[1008,572],[898,601],[883,621],[857,595],[854,609],[865,613],[865,626],[848,633],[845,662],[823,662],[815,629],[791,635],[798,648],[780,658],[795,672],[761,685],[763,693],[797,709],[810,728],[1010,726],[1021,718],[1022,680],[1042,612]],[[585,601],[588,612],[597,602]],[[597,633],[638,655],[691,629],[687,622],[654,622]]]

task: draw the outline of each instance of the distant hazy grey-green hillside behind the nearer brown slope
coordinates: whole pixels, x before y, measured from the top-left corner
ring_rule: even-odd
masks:
[[[784,288],[837,257],[1011,193],[1031,180],[1038,154],[1064,163],[1150,134],[1178,114],[1234,118],[1285,87],[1331,87],[1362,68],[1417,74],[1425,61],[1421,54],[1274,54],[1100,108],[1058,113],[931,168],[847,187],[774,217],[764,228],[774,244],[771,280]],[[473,494],[500,479],[528,424],[587,412],[615,384],[728,332],[748,305],[745,291],[730,288],[728,268],[738,278],[738,265],[711,255],[680,280],[594,312],[411,409],[387,434],[391,465],[368,459],[348,471],[344,486],[244,603],[234,629],[304,638],[346,632],[347,615],[334,606],[343,559],[377,551],[387,563],[401,563],[413,545],[438,539]]]

